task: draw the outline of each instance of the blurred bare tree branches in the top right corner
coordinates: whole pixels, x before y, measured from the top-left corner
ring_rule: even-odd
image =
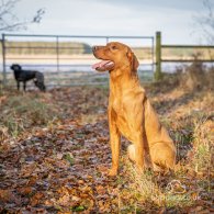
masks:
[[[203,0],[205,13],[195,18],[196,23],[202,29],[203,35],[205,36],[209,44],[214,44],[214,4],[211,0]]]

